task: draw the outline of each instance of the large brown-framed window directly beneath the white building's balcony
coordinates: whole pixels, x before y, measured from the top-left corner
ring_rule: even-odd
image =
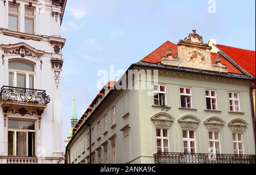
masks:
[[[35,121],[9,119],[8,155],[35,156]]]

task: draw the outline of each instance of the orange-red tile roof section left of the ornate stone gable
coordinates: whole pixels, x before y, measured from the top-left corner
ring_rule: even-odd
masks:
[[[144,57],[141,61],[149,63],[159,63],[162,61],[162,58],[166,56],[166,51],[168,48],[172,49],[172,57],[175,57],[175,55],[177,54],[177,45],[170,41],[166,41],[159,48],[155,49],[148,56]]]

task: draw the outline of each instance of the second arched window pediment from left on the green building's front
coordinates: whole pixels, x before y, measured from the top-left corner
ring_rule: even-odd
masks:
[[[196,116],[186,115],[178,119],[182,128],[185,129],[196,129],[198,123],[200,123],[200,119]]]

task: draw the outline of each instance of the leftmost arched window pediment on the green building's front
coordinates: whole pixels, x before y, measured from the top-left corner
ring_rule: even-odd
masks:
[[[174,121],[174,117],[167,113],[158,113],[150,118],[155,126],[167,126],[170,127],[171,123]]]

